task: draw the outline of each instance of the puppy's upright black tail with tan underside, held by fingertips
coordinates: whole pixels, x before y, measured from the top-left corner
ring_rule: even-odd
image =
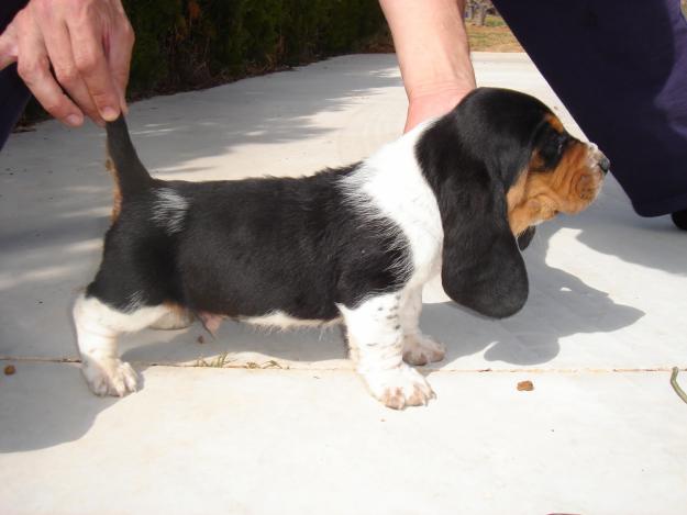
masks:
[[[131,143],[129,128],[124,115],[120,115],[114,122],[106,123],[108,132],[108,169],[114,176],[114,210],[112,217],[119,215],[122,199],[148,189],[153,178],[145,169],[136,149]]]

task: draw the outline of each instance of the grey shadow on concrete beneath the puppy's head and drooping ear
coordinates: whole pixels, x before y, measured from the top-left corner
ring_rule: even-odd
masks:
[[[542,365],[558,355],[561,339],[567,336],[613,332],[644,315],[635,307],[613,302],[606,292],[579,278],[546,265],[550,239],[561,228],[559,224],[556,221],[539,226],[524,253],[530,296],[517,315],[495,321],[455,303],[424,306],[422,328],[446,345],[446,362],[453,361],[452,368],[466,368],[461,366],[461,358],[481,351],[486,361]],[[585,225],[583,234],[587,231],[594,233],[597,228]]]

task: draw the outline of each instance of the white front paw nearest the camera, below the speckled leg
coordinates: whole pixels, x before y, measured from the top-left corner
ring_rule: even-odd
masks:
[[[424,405],[435,396],[426,379],[407,365],[370,371],[364,377],[373,395],[394,410]]]

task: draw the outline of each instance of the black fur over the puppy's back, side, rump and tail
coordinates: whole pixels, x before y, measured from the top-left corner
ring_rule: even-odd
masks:
[[[331,320],[336,303],[353,307],[407,280],[400,229],[352,209],[339,186],[359,164],[299,179],[145,180],[125,125],[115,125],[108,137],[122,209],[88,295],[121,311],[173,303],[233,317]],[[186,203],[178,231],[156,217],[170,192]]]

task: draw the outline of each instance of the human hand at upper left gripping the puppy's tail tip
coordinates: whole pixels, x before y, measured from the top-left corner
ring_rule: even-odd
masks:
[[[66,125],[81,125],[85,114],[102,125],[126,110],[133,43],[121,0],[30,0],[0,34],[0,69],[16,63],[36,100]]]

